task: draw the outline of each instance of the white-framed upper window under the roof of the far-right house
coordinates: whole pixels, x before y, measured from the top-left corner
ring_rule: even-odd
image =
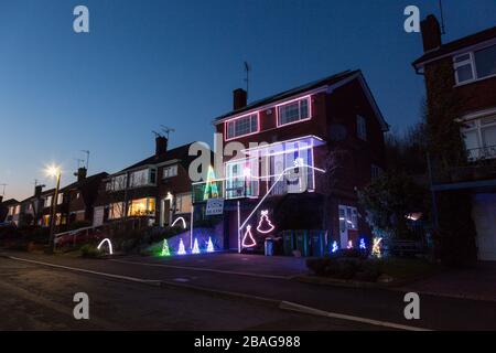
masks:
[[[464,84],[496,75],[496,45],[453,58],[456,84]]]

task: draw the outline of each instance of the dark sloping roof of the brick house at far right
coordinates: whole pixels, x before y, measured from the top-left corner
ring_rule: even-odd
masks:
[[[463,50],[464,47],[468,47],[478,43],[483,43],[485,41],[496,39],[496,26],[493,26],[490,29],[461,38],[456,41],[452,41],[445,44],[442,44],[440,47],[429,51],[422,56],[420,56],[418,60],[416,60],[412,65],[414,67],[420,67],[425,62],[430,62],[436,58],[440,58],[442,56],[445,56],[450,53]]]

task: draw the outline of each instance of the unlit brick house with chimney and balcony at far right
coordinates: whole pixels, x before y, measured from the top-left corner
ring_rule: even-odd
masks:
[[[450,180],[436,180],[434,173],[433,190],[438,195],[470,192],[477,257],[496,260],[496,26],[449,43],[442,42],[434,15],[421,26],[424,54],[413,67],[424,75],[431,107],[456,97],[460,107],[452,118],[466,148],[465,163],[453,165]],[[441,74],[446,67],[448,77]]]

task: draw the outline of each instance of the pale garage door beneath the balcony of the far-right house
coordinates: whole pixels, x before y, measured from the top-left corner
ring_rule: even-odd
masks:
[[[476,194],[472,212],[477,229],[478,259],[496,261],[496,194]]]

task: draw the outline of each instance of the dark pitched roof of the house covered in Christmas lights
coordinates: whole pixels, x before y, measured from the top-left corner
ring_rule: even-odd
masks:
[[[317,87],[321,87],[321,86],[324,86],[324,85],[332,85],[332,84],[338,83],[339,81],[348,78],[348,77],[351,77],[351,76],[353,76],[353,75],[355,75],[357,73],[360,73],[360,71],[359,69],[355,69],[355,71],[347,69],[347,71],[341,72],[338,74],[331,75],[331,76],[327,76],[327,77],[324,77],[324,78],[321,78],[321,79],[308,83],[308,84],[299,86],[296,88],[292,88],[292,89],[289,89],[289,90],[284,90],[284,92],[278,93],[276,95],[272,95],[272,96],[262,98],[260,100],[256,100],[254,103],[250,103],[249,105],[247,105],[247,106],[245,106],[245,107],[242,107],[240,109],[226,113],[226,114],[215,118],[215,121],[225,119],[225,118],[230,117],[233,115],[237,115],[237,114],[240,114],[240,113],[244,113],[244,111],[251,110],[254,108],[258,108],[258,107],[265,106],[265,105],[270,104],[270,103],[276,101],[276,100],[281,100],[281,99],[284,99],[284,98],[289,98],[291,96],[298,95],[300,93],[304,93],[306,90],[311,90],[311,89],[314,89],[314,88],[317,88]]]

